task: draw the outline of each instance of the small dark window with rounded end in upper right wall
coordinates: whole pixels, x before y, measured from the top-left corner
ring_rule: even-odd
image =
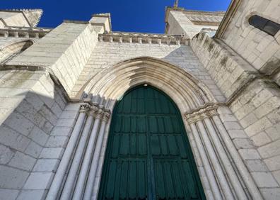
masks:
[[[250,25],[255,26],[255,28],[259,28],[259,30],[262,30],[272,36],[276,35],[276,33],[280,30],[279,23],[275,23],[261,16],[251,16],[249,18],[249,23]]]

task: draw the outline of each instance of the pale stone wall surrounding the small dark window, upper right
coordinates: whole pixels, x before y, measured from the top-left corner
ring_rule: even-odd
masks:
[[[242,55],[247,62],[263,74],[272,75],[280,82],[280,34],[269,35],[248,22],[250,16],[259,15],[280,23],[278,0],[241,1],[228,27],[223,31],[222,40]]]

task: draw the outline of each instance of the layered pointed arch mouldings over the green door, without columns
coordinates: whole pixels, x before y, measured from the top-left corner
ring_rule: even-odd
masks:
[[[89,80],[82,91],[110,100],[105,104],[112,110],[112,100],[121,98],[125,91],[139,84],[150,84],[164,91],[181,113],[216,102],[211,91],[191,74],[152,57],[136,57],[108,67]]]

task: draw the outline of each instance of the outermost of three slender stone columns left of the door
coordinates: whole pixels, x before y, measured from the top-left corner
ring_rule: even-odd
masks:
[[[71,163],[71,167],[66,178],[66,182],[64,184],[64,188],[62,190],[62,196],[60,199],[70,199],[71,193],[74,187],[75,179],[78,174],[78,168],[80,167],[81,160],[83,159],[83,152],[88,144],[88,135],[91,132],[91,127],[93,124],[93,116],[95,111],[91,110],[88,113],[88,118],[86,120],[86,125],[83,128],[83,132],[80,140],[78,141],[78,147],[76,148],[76,152],[74,155],[74,159]]]

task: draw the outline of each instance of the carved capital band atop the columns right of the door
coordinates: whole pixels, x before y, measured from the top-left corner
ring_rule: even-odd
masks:
[[[197,121],[202,121],[204,118],[218,115],[217,109],[221,105],[223,104],[206,104],[200,109],[185,113],[184,118],[189,124],[197,123]]]

